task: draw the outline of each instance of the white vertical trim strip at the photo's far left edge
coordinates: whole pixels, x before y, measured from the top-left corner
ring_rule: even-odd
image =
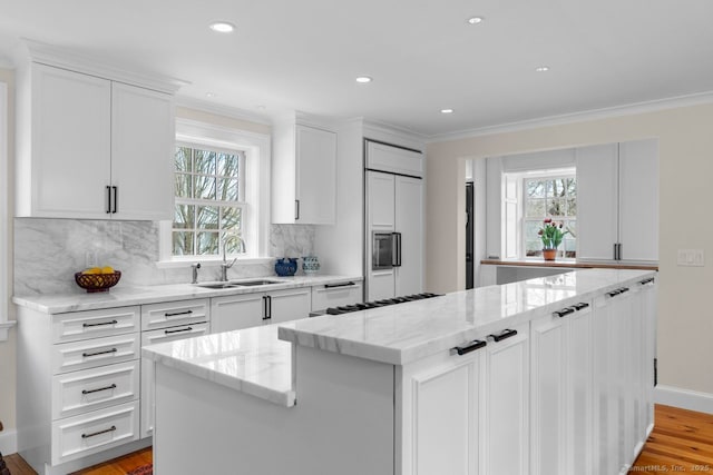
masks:
[[[9,212],[8,212],[8,85],[0,82],[0,256],[3,263],[0,266],[0,342],[8,339],[8,331],[16,324],[16,321],[8,320],[8,295],[9,295],[9,281],[8,281],[8,229],[9,229]]]

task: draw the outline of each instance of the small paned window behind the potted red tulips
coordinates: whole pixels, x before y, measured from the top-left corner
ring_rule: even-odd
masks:
[[[525,257],[543,254],[538,231],[545,218],[551,218],[569,231],[559,246],[561,255],[577,256],[577,180],[574,172],[522,178],[522,207]]]

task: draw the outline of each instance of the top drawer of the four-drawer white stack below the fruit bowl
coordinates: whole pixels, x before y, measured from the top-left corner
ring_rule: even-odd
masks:
[[[134,307],[52,315],[52,342],[77,342],[138,331],[140,309]]]

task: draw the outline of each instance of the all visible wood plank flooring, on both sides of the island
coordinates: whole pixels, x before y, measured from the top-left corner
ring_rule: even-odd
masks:
[[[629,475],[713,475],[713,415],[656,405],[655,427]],[[12,475],[37,475],[20,457],[4,457]],[[72,475],[125,475],[153,461],[150,447]]]

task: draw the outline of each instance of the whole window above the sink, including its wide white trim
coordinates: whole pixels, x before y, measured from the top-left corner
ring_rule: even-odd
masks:
[[[176,119],[175,211],[160,224],[159,267],[226,254],[264,259],[270,246],[270,135]],[[240,237],[240,239],[238,239]]]

